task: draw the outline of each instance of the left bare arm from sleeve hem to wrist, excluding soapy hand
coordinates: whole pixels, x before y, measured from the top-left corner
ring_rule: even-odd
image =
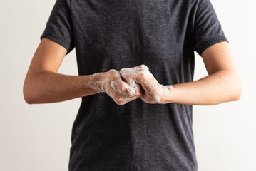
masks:
[[[24,81],[26,103],[54,103],[98,93],[87,84],[92,76],[57,73],[66,52],[58,43],[42,39]]]

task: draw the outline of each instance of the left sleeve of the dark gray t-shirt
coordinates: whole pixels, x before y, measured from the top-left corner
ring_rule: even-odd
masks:
[[[49,38],[66,48],[66,55],[75,48],[68,0],[56,0],[40,40]]]

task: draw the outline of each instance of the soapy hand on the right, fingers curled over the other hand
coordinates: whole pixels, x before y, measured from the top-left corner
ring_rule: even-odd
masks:
[[[145,65],[135,66],[133,68],[123,68],[120,71],[121,76],[126,83],[138,83],[143,88],[143,94],[140,96],[145,103],[165,104],[165,96],[170,94],[172,86],[163,86],[158,83],[152,73]]]

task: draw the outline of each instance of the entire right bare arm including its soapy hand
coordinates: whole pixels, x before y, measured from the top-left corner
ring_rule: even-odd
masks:
[[[121,70],[126,81],[135,80],[145,90],[145,103],[181,103],[187,105],[216,105],[238,100],[241,95],[240,77],[227,42],[216,43],[202,53],[209,76],[198,81],[171,86],[160,85],[145,66]],[[140,72],[134,72],[138,70]]]

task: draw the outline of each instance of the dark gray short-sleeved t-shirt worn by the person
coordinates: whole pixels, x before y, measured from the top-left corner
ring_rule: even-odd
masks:
[[[209,0],[57,0],[41,35],[76,49],[79,75],[145,64],[163,85],[193,81],[199,55],[227,41]],[[195,171],[192,105],[83,97],[69,171]]]

